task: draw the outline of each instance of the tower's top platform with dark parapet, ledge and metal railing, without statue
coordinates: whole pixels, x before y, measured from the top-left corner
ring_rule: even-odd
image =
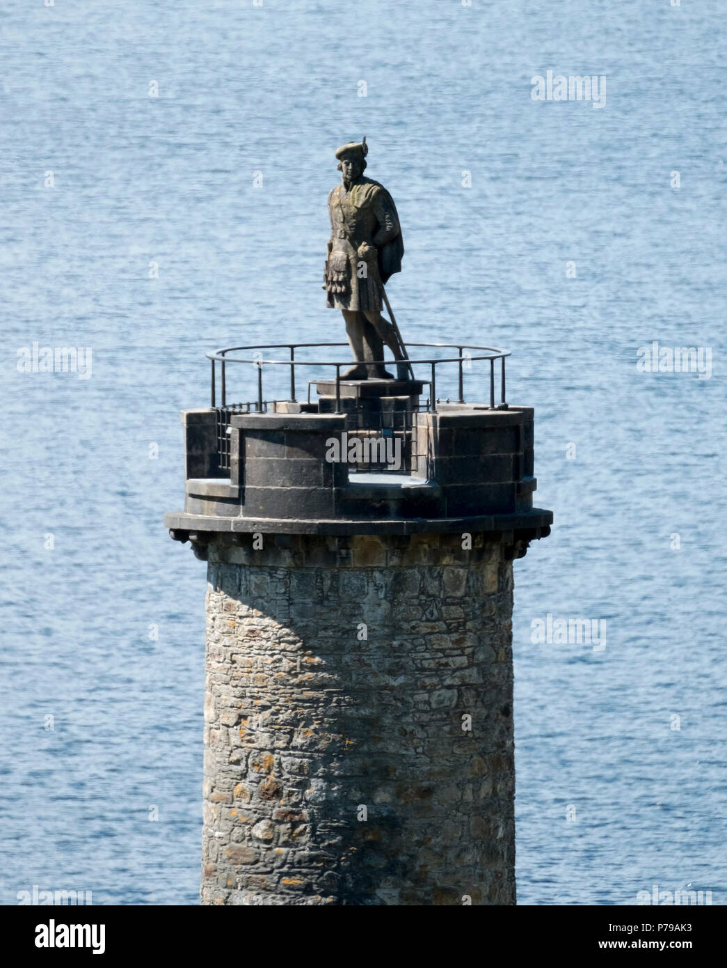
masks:
[[[514,556],[549,533],[552,512],[533,507],[534,411],[505,402],[506,350],[481,353],[490,364],[491,399],[468,404],[435,395],[436,370],[450,364],[463,396],[465,364],[475,358],[468,348],[458,347],[454,357],[412,361],[432,370],[429,379],[413,380],[342,379],[345,364],[296,360],[300,347],[290,348],[293,359],[287,361],[233,355],[250,349],[257,351],[211,354],[213,367],[223,368],[213,406],[182,412],[185,506],[164,519],[175,539],[191,540],[200,552],[213,538],[242,540],[257,531],[475,531],[493,540],[499,535]],[[226,369],[250,361],[258,401],[228,404]],[[498,404],[495,361],[502,367]],[[336,377],[310,379],[306,400],[296,400],[296,371],[325,365],[335,368]],[[289,369],[290,399],[264,399],[266,366]],[[313,401],[312,385],[319,393]]]

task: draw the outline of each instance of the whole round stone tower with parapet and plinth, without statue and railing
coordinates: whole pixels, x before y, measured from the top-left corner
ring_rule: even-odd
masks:
[[[208,561],[202,903],[514,904],[512,560],[552,522],[533,410],[327,390],[182,415],[165,523]],[[366,473],[397,439],[406,472]]]

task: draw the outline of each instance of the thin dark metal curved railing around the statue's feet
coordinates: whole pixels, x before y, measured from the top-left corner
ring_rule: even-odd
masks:
[[[262,411],[265,408],[265,398],[264,398],[264,386],[263,386],[263,371],[265,367],[287,367],[290,369],[290,397],[289,400],[296,402],[296,368],[299,370],[302,367],[332,367],[335,369],[335,412],[340,412],[340,381],[341,381],[341,369],[343,367],[350,367],[352,365],[352,360],[349,358],[347,360],[342,360],[340,362],[332,360],[309,360],[296,358],[296,350],[299,349],[320,349],[320,348],[332,348],[332,347],[348,347],[347,343],[271,343],[263,344],[258,346],[247,346],[247,347],[228,347],[225,349],[217,349],[215,352],[207,353],[207,359],[212,361],[212,406],[214,408],[226,407],[226,396],[227,396],[227,374],[226,367],[230,363],[247,363],[252,365],[257,370],[257,401],[254,403],[254,407],[258,411]],[[488,361],[489,362],[489,383],[490,383],[490,402],[489,406],[492,409],[506,409],[508,404],[505,397],[505,360],[510,355],[509,349],[497,349],[494,347],[475,347],[466,344],[455,344],[455,343],[407,343],[408,349],[420,348],[420,349],[456,349],[456,356],[449,357],[433,357],[427,356],[422,359],[409,359],[407,362],[412,366],[428,366],[430,368],[430,378],[421,379],[419,382],[427,384],[429,386],[429,400],[431,409],[437,409],[437,404],[440,401],[437,399],[437,367],[444,364],[455,363],[457,365],[458,371],[458,391],[459,399],[457,403],[465,403],[464,399],[464,373],[465,370],[471,370],[472,364]],[[289,352],[289,358],[284,360],[278,359],[265,359],[262,354],[263,349],[287,349]],[[230,353],[237,353],[240,351],[251,350],[252,355],[241,358],[239,356],[231,356]],[[478,355],[474,355],[473,352],[477,351]],[[497,360],[501,361],[500,370],[500,403],[495,404],[495,363]],[[366,360],[366,365],[395,365],[394,360]],[[219,364],[219,404],[218,404],[218,373],[217,365]],[[412,371],[413,372],[413,371]]]

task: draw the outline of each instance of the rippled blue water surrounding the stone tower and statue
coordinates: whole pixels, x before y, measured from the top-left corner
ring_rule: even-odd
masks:
[[[510,348],[536,408],[556,525],[515,566],[518,900],[723,903],[723,4],[3,7],[0,902],[198,901],[178,411],[211,348],[343,339],[326,197],[366,135],[405,338]],[[605,106],[534,101],[548,70],[605,76]],[[639,372],[654,340],[711,348],[711,378]],[[91,377],[18,372],[34,342],[92,348]],[[534,643],[548,614],[605,620],[605,649]]]

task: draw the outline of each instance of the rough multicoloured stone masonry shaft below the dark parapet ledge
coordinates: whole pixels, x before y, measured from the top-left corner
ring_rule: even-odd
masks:
[[[237,540],[209,548],[202,902],[513,904],[505,547]]]

